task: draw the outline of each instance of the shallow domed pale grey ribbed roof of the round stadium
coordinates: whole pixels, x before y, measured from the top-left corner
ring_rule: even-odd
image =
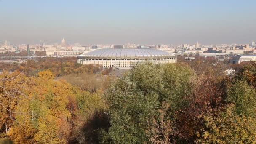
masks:
[[[152,48],[140,48],[140,49],[98,49],[83,53],[79,57],[106,57],[106,58],[130,58],[130,57],[158,57],[158,56],[174,56],[166,51],[161,51]]]

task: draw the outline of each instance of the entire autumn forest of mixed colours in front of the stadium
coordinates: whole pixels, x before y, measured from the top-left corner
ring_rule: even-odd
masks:
[[[256,62],[178,58],[120,77],[75,58],[0,69],[0,143],[256,143]]]

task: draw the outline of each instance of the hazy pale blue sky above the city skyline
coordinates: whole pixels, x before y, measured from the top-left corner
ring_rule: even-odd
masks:
[[[0,0],[0,42],[250,43],[256,0]]]

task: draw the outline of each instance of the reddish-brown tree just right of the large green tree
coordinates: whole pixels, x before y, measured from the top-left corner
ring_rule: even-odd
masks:
[[[176,113],[177,141],[193,143],[197,136],[195,133],[204,128],[202,115],[214,113],[224,106],[226,96],[226,79],[215,75],[197,75],[192,80],[192,91],[187,97],[188,105]]]

